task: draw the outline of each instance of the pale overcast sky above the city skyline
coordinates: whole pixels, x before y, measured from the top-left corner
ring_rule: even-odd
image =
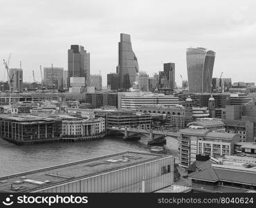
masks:
[[[67,69],[67,50],[81,44],[91,53],[91,74],[118,64],[120,33],[131,35],[140,71],[151,76],[163,62],[176,63],[176,82],[187,78],[185,50],[216,52],[213,76],[232,81],[256,78],[256,1],[199,0],[1,0],[0,58],[22,62],[24,81],[39,65]],[[1,61],[0,78],[4,67]]]

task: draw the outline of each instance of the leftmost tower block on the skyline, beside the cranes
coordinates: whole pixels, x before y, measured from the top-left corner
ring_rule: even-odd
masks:
[[[12,92],[19,91],[22,92],[23,83],[23,71],[22,69],[12,68],[9,71],[10,76],[10,89]]]

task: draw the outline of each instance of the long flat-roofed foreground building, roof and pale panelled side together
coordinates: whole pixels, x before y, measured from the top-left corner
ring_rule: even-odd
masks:
[[[149,193],[173,184],[174,157],[127,151],[0,180],[0,191],[10,193]]]

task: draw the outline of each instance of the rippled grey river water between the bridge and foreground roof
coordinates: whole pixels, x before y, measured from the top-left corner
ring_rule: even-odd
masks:
[[[176,157],[178,141],[172,137],[166,137],[166,140],[165,148]],[[149,151],[147,139],[123,141],[121,137],[107,137],[95,141],[24,146],[0,139],[0,177],[127,150]]]

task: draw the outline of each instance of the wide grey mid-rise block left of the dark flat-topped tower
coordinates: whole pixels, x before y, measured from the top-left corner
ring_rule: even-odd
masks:
[[[62,67],[44,67],[44,85],[46,89],[63,89]]]

